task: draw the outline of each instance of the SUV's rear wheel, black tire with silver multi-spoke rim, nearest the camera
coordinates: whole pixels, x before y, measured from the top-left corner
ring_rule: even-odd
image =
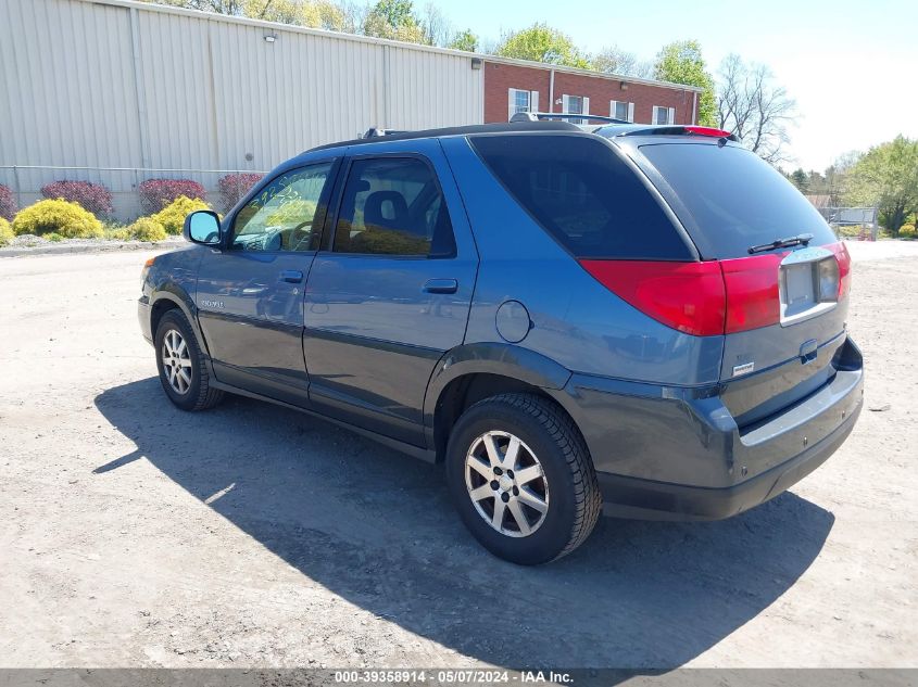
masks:
[[[475,538],[523,565],[570,554],[602,509],[579,430],[558,406],[533,394],[501,394],[466,410],[450,436],[447,480]]]

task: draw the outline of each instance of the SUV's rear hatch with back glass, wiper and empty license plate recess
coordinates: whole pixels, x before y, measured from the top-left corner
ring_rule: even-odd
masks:
[[[742,428],[834,376],[851,263],[813,205],[757,155],[724,139],[629,142],[726,292],[724,403]]]

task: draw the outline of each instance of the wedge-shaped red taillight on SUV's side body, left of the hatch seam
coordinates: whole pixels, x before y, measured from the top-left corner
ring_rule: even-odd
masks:
[[[636,308],[687,334],[724,333],[726,295],[720,265],[644,260],[580,260],[596,281]]]

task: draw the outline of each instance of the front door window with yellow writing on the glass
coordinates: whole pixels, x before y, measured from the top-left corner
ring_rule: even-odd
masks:
[[[315,251],[322,227],[313,226],[331,171],[323,163],[280,175],[236,215],[230,247],[240,251]]]

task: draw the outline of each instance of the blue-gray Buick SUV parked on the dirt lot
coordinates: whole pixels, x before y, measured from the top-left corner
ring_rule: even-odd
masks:
[[[443,462],[468,530],[517,563],[569,554],[601,511],[762,504],[862,408],[848,254],[724,131],[336,143],[185,236],[139,304],[176,406],[242,394]]]

